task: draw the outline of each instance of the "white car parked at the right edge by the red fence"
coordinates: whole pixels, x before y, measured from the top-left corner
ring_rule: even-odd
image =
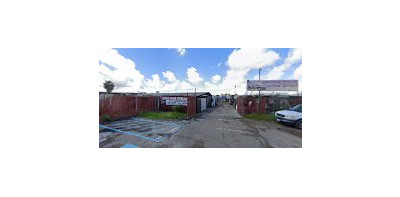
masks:
[[[275,112],[275,119],[278,122],[289,123],[301,129],[301,111],[301,104],[299,104],[288,110]]]

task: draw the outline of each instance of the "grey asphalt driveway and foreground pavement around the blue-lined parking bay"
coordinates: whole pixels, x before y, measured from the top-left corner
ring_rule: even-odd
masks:
[[[179,129],[162,141],[100,128],[100,147],[173,148],[301,148],[301,130],[276,121],[241,117],[232,105],[221,102],[189,121],[172,121]],[[151,129],[150,129],[151,131]],[[154,133],[154,132],[153,132]],[[162,134],[158,134],[162,135]],[[160,138],[161,139],[161,138]]]

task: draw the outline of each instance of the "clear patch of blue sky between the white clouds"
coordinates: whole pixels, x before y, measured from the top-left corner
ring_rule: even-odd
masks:
[[[226,72],[225,61],[233,49],[222,48],[190,48],[184,56],[179,56],[174,49],[116,49],[122,56],[135,60],[137,68],[145,75],[169,70],[177,78],[186,77],[186,69],[195,66],[204,78],[211,78],[215,74],[223,75]],[[220,67],[218,64],[221,63]]]

